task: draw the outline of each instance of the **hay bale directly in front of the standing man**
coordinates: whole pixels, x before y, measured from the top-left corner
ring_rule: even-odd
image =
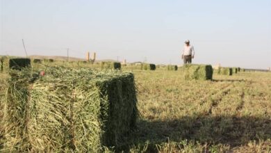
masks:
[[[213,68],[211,65],[191,65],[186,64],[184,68],[184,78],[186,80],[211,80],[213,79]]]

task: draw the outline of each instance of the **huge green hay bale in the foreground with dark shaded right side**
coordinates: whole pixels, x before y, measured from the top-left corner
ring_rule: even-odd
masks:
[[[36,74],[22,71],[10,78],[5,120],[15,126],[7,131],[6,147],[99,152],[104,145],[117,147],[136,124],[129,72],[47,68],[27,86],[30,76]]]

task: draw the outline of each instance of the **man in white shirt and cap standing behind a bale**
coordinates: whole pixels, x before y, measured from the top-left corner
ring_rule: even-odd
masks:
[[[190,45],[190,41],[186,40],[186,42],[184,42],[186,45],[184,45],[183,47],[183,51],[181,53],[181,58],[183,59],[183,63],[191,63],[192,62],[192,58],[194,58],[195,55],[195,51],[194,51],[194,47],[192,45]]]

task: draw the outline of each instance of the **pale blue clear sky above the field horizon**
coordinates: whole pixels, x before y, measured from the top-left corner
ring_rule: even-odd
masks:
[[[271,67],[270,0],[1,0],[0,54]]]

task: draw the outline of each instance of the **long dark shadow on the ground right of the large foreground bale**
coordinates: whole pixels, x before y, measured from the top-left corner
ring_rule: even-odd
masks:
[[[125,145],[152,145],[167,143],[168,140],[180,142],[192,140],[201,144],[222,144],[238,147],[250,140],[271,138],[270,118],[236,116],[186,116],[178,120],[140,120],[138,128],[126,138]],[[125,147],[122,147],[124,149]]]

